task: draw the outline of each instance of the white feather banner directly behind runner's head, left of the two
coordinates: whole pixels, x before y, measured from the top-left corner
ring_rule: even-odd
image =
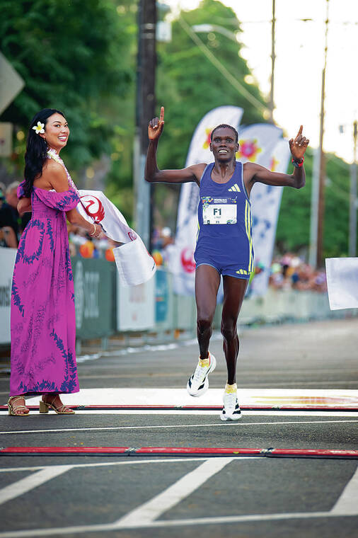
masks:
[[[238,106],[219,106],[204,115],[192,135],[185,166],[211,162],[213,159],[209,145],[212,130],[221,123],[237,129],[242,115],[243,109]],[[178,294],[194,294],[198,202],[197,184],[184,183],[180,189],[175,244],[167,247],[168,267],[174,274],[173,290]]]

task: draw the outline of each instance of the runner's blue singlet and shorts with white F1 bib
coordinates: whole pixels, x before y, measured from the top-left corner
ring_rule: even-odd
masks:
[[[253,271],[253,222],[243,164],[236,161],[226,183],[212,180],[213,168],[209,163],[200,179],[195,262],[197,267],[212,265],[221,275],[248,279]]]

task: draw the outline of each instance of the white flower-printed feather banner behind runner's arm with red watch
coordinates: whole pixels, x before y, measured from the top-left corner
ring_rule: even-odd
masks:
[[[287,171],[289,143],[282,139],[279,127],[263,123],[248,125],[241,129],[239,135],[238,160],[243,163],[255,162],[275,172]],[[261,268],[250,285],[253,296],[264,295],[267,291],[281,198],[282,187],[263,183],[255,183],[250,193],[255,266],[260,264]]]

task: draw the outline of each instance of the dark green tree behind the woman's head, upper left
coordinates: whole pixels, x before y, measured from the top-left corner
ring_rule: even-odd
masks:
[[[109,118],[119,112],[133,77],[132,28],[123,15],[112,0],[1,2],[1,52],[25,81],[1,120],[26,130],[41,108],[63,110],[71,127],[71,170],[112,153]],[[17,153],[22,168],[21,144]]]

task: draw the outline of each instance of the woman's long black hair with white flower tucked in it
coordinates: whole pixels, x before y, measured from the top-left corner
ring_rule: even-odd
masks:
[[[65,118],[65,115],[61,110],[56,110],[56,108],[43,108],[40,112],[37,112],[31,120],[25,153],[25,183],[23,184],[23,190],[26,197],[30,197],[31,191],[33,190],[33,182],[35,178],[41,176],[42,166],[47,159],[47,143],[45,139],[36,134],[33,127],[37,125],[37,122],[45,124],[46,127],[48,118],[55,113],[61,114]]]

